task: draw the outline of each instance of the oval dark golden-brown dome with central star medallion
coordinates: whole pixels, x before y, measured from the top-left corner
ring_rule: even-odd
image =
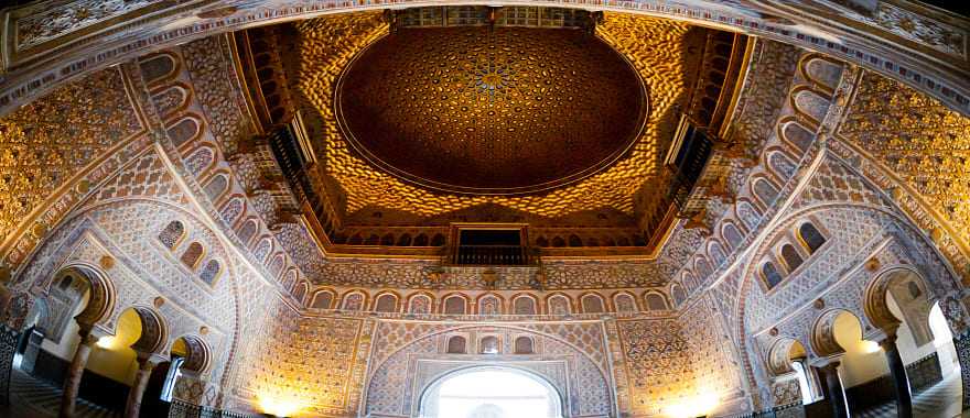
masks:
[[[401,29],[342,74],[337,120],[371,164],[412,184],[529,194],[606,168],[636,142],[643,81],[572,29]]]

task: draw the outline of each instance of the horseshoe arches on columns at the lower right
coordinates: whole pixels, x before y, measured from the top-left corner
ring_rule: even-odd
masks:
[[[951,375],[960,373],[951,318],[944,315],[930,285],[910,266],[881,268],[862,302],[861,307],[834,308],[820,302],[816,308],[822,312],[810,328],[786,332],[777,327],[764,336],[773,396],[805,405],[830,396],[840,411],[849,414],[865,404],[864,399],[850,404],[843,385],[861,384],[872,391],[875,378],[895,386],[899,416],[926,414],[914,409],[913,394],[940,380],[959,377]],[[860,308],[862,317],[858,316]],[[823,395],[833,389],[840,391],[841,398]],[[955,411],[949,408],[940,414]]]

